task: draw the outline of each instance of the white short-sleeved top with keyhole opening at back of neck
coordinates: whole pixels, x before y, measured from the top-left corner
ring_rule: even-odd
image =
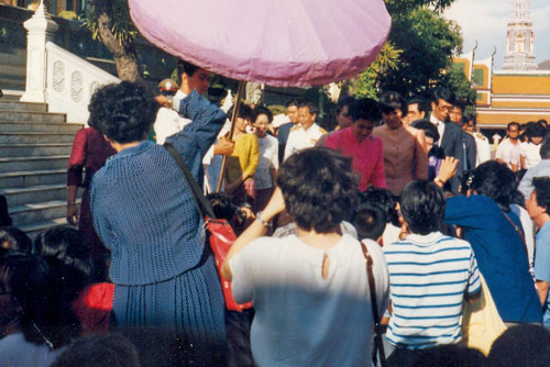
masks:
[[[382,314],[388,302],[387,267],[381,247],[364,242]],[[326,255],[327,279],[321,275]],[[229,264],[235,300],[254,301],[251,345],[258,366],[371,366],[374,325],[358,240],[344,234],[323,251],[295,235],[261,237]]]

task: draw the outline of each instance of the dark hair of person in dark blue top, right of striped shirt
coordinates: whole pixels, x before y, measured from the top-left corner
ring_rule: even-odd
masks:
[[[501,209],[509,211],[512,194],[516,190],[514,173],[496,160],[487,160],[474,169],[472,189],[493,199]]]

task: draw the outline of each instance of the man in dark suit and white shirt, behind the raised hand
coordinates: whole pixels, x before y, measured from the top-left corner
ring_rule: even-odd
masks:
[[[459,175],[464,170],[464,146],[462,129],[449,120],[454,101],[455,97],[451,90],[447,88],[436,89],[431,100],[430,122],[438,127],[439,136],[441,136],[438,145],[443,149],[446,156],[459,159],[457,165],[458,174],[450,179],[451,190],[458,193],[460,187]]]

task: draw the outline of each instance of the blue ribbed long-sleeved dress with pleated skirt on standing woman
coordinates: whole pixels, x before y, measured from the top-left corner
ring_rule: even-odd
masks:
[[[201,186],[202,157],[226,114],[196,91],[182,100],[179,112],[191,123],[167,141]],[[226,345],[223,294],[202,219],[168,152],[143,141],[109,158],[94,176],[90,207],[111,249],[117,323],[162,332],[178,341],[195,366],[215,365]]]

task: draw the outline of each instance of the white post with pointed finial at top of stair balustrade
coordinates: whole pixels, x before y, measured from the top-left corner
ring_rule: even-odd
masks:
[[[26,85],[21,101],[45,103],[46,43],[53,40],[59,26],[46,12],[44,1],[23,25],[26,30]]]

